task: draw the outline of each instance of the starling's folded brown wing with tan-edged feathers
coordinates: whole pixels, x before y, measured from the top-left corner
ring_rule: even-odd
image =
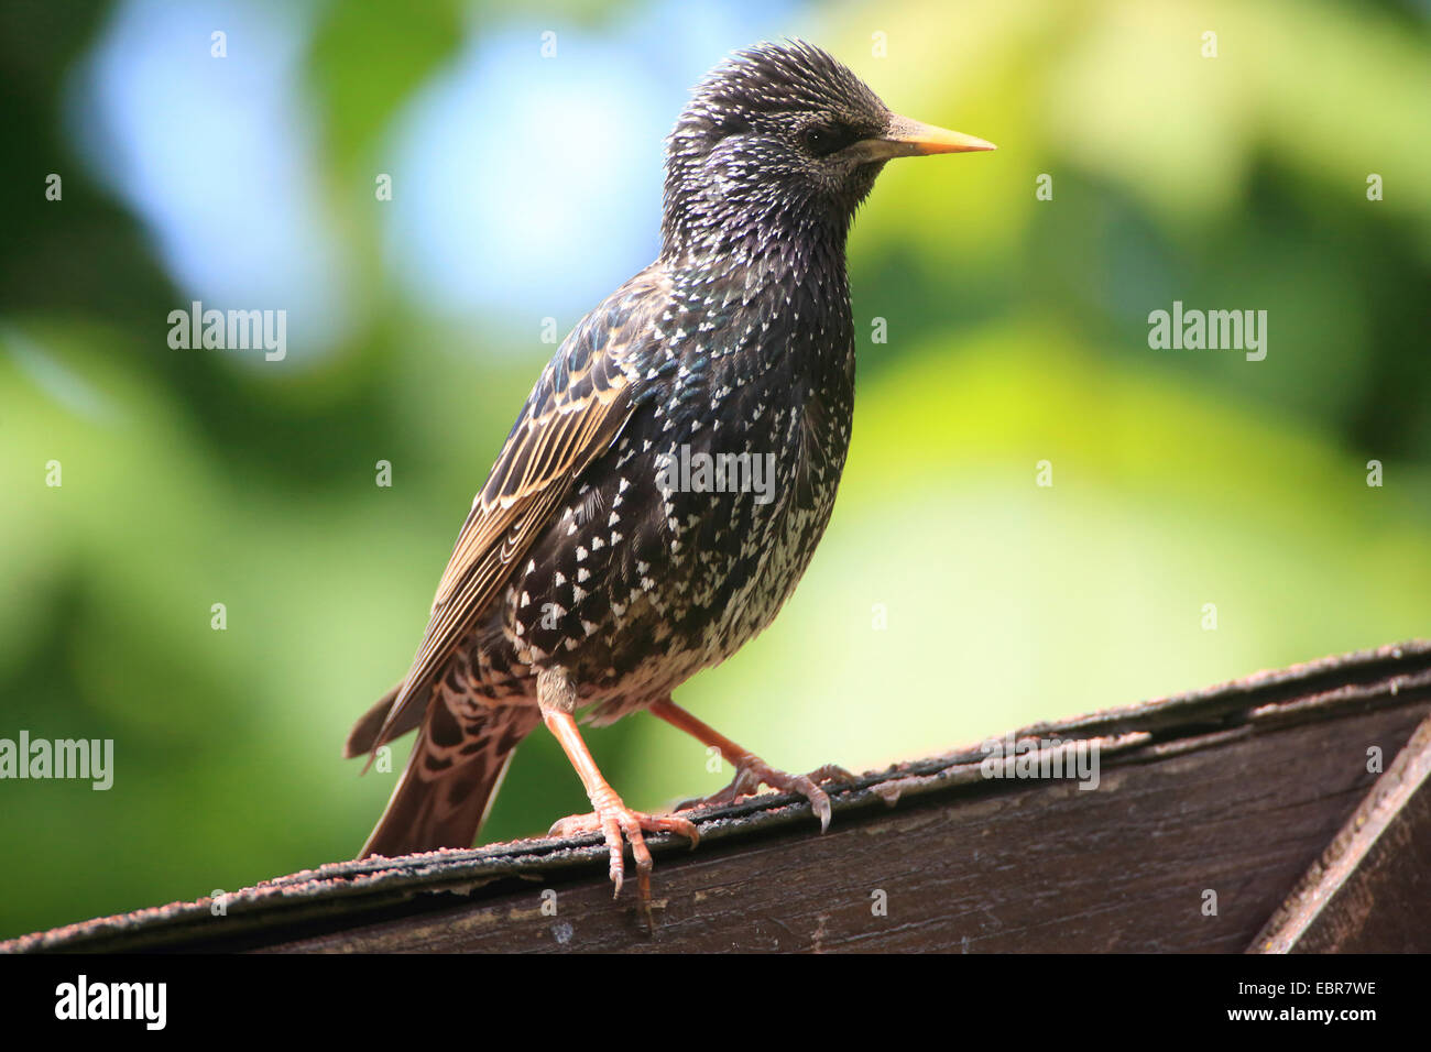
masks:
[[[405,708],[422,697],[512,564],[571,492],[574,479],[621,432],[635,405],[633,349],[650,339],[660,286],[650,272],[633,278],[582,319],[542,371],[462,524],[422,646],[373,747],[396,733]]]

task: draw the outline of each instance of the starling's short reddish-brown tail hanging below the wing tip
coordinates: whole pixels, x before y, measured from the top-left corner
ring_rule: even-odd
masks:
[[[343,750],[346,756],[359,756],[381,744],[376,733],[386,716],[385,701],[392,703],[391,693],[353,727]],[[412,756],[359,859],[471,847],[518,743],[541,719],[535,707],[531,711],[492,708],[484,711],[478,723],[465,719],[459,726],[441,698],[416,711],[424,708]],[[406,730],[402,727],[396,733]]]

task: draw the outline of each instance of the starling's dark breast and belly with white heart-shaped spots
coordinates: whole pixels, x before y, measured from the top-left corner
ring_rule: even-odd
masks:
[[[834,505],[853,415],[849,302],[675,296],[635,408],[508,590],[524,666],[561,660],[608,717],[761,631]],[[704,328],[703,328],[704,326]]]

